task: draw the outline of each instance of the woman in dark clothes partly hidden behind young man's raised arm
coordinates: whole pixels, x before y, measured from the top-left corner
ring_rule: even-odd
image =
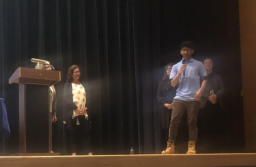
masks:
[[[176,95],[177,87],[173,88],[169,79],[173,63],[164,67],[164,76],[158,84],[157,101],[158,111],[161,113],[161,149],[165,149],[168,140],[169,127],[172,115],[172,99]]]

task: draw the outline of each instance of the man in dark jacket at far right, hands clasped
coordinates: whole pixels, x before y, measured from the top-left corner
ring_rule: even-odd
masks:
[[[208,75],[200,111],[198,113],[199,135],[202,140],[202,153],[222,153],[225,147],[226,116],[223,107],[223,94],[225,87],[220,74],[212,71],[213,61],[211,57],[204,59],[204,68]],[[221,139],[221,140],[220,140]],[[209,142],[211,141],[211,142]]]

